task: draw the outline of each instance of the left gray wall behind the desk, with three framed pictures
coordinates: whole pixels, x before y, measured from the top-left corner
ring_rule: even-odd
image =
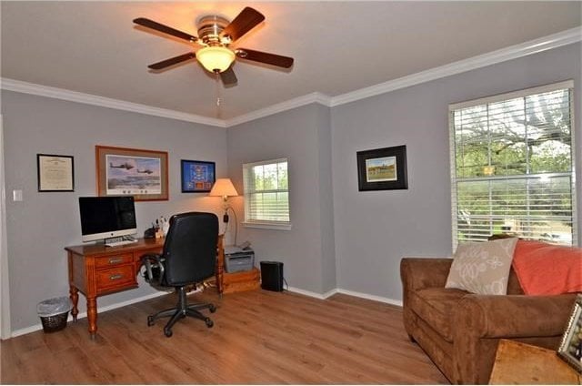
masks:
[[[12,330],[39,323],[36,303],[68,294],[66,245],[81,243],[77,198],[95,196],[95,145],[168,151],[168,201],[135,203],[141,234],[159,216],[189,210],[220,212],[220,199],[183,194],[180,159],[216,161],[226,177],[226,129],[58,99],[2,92]],[[75,192],[38,193],[36,154],[75,157]],[[24,201],[13,202],[12,190]],[[106,306],[153,293],[139,289],[97,300]],[[85,298],[79,298],[85,311]]]

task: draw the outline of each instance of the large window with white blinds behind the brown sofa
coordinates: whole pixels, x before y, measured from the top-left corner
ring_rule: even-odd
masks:
[[[572,87],[449,107],[454,249],[503,232],[577,244]]]

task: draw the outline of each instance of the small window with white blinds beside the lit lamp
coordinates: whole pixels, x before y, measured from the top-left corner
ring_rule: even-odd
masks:
[[[245,225],[290,229],[287,158],[243,165]]]

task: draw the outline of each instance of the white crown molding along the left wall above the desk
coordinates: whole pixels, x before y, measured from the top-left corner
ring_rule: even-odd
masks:
[[[225,127],[225,121],[222,119],[197,116],[196,114],[183,113],[167,108],[152,107],[140,105],[137,103],[126,102],[124,100],[108,98],[105,96],[95,96],[77,91],[67,90],[51,86],[36,85],[35,83],[23,82],[20,80],[0,78],[0,88],[15,91],[18,93],[32,94],[36,96],[46,96],[56,99],[68,100],[71,102],[84,103],[100,107],[115,108],[117,110],[131,111],[134,113],[146,114],[148,116],[172,118],[186,122],[194,122],[202,125]]]

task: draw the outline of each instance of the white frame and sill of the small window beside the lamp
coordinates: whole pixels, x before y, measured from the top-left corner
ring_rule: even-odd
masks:
[[[246,170],[250,170],[256,166],[266,166],[266,165],[276,165],[280,163],[286,163],[287,169],[287,187],[286,189],[263,189],[263,190],[253,190],[252,193],[261,193],[261,192],[286,192],[287,194],[287,216],[289,218],[288,221],[280,221],[280,220],[268,220],[268,219],[249,219],[248,216],[248,198],[251,192],[248,191],[248,187],[246,186]],[[243,221],[243,226],[245,228],[256,228],[256,229],[279,229],[279,230],[290,230],[292,228],[291,224],[291,198],[290,198],[290,181],[289,181],[289,158],[288,157],[280,157],[275,159],[266,159],[263,161],[256,161],[256,162],[248,162],[243,164],[243,197],[244,197],[244,208],[245,208],[245,219]]]

